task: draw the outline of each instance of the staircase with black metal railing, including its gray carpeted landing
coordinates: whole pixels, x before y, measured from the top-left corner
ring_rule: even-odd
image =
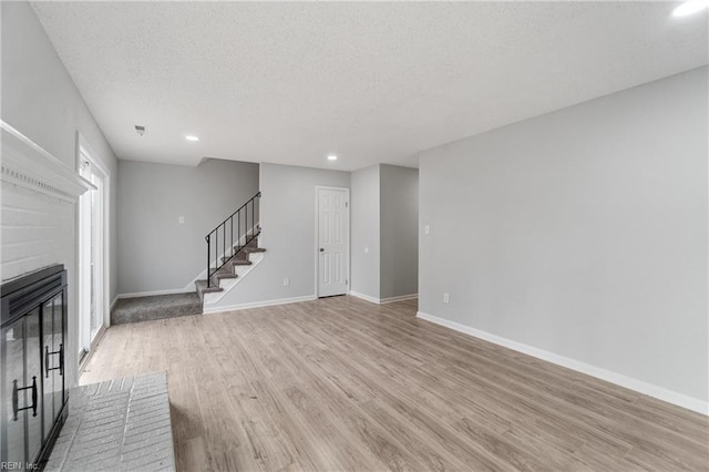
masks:
[[[207,234],[206,278],[195,281],[196,293],[120,299],[111,324],[202,315],[204,305],[218,301],[264,258],[266,249],[258,247],[260,196],[260,192],[254,195]]]

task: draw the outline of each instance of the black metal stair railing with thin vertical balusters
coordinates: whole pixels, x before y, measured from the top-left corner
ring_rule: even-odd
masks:
[[[261,232],[259,222],[256,220],[256,202],[261,197],[261,193],[250,197],[244,205],[239,206],[234,213],[219,223],[216,228],[212,229],[204,237],[207,242],[207,288],[212,286],[212,276],[215,275],[222,267],[236,257],[242,250],[254,240]],[[248,226],[249,220],[249,205],[251,206],[251,226]],[[244,212],[244,233],[242,234],[242,212]],[[234,219],[236,217],[236,239],[234,239]],[[260,215],[259,215],[260,217]],[[229,230],[227,232],[227,223]],[[219,253],[219,230],[222,232],[222,253]],[[228,233],[228,239],[227,239]],[[212,268],[212,239],[214,236],[214,268]],[[244,238],[244,244],[242,244]],[[227,248],[228,240],[228,248]],[[219,259],[222,263],[219,264]]]

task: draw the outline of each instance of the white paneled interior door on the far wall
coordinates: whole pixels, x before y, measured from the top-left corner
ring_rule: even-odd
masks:
[[[318,296],[347,294],[349,284],[349,188],[317,188]]]

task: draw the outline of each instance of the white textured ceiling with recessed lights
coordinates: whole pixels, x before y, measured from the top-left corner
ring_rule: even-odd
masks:
[[[707,64],[676,4],[33,7],[120,158],[356,170]]]

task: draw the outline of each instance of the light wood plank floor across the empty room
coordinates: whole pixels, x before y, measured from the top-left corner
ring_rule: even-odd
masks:
[[[167,371],[177,468],[709,470],[706,417],[351,297],[110,328],[81,378]]]

